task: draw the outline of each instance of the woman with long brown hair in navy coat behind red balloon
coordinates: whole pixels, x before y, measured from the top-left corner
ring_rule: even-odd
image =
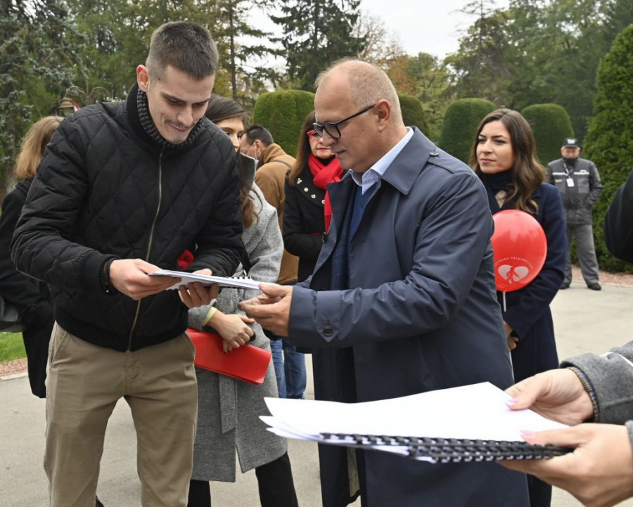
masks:
[[[498,109],[477,129],[470,164],[486,187],[492,214],[501,210],[529,213],[541,224],[546,240],[545,264],[537,277],[519,290],[497,291],[511,349],[514,380],[558,368],[554,323],[549,304],[561,286],[565,269],[565,216],[558,189],[545,183],[536,158],[530,124],[520,113]],[[549,506],[551,486],[529,477],[530,505]]]

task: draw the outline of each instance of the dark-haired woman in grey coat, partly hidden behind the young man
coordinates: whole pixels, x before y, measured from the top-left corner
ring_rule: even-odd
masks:
[[[212,96],[205,116],[231,137],[236,151],[244,131],[244,110],[228,98]],[[277,212],[253,182],[255,160],[238,152],[242,241],[246,257],[236,274],[248,269],[258,281],[274,283],[279,276],[283,242]],[[238,303],[259,291],[224,288],[215,302],[189,310],[189,327],[214,328],[224,350],[248,342],[270,350],[262,327],[238,310]],[[210,507],[209,482],[235,482],[235,455],[242,473],[255,468],[262,507],[298,505],[286,439],[267,430],[260,416],[268,413],[264,397],[277,397],[273,364],[262,385],[251,385],[212,371],[196,368],[198,377],[198,429],[193,447],[193,473],[188,507]]]

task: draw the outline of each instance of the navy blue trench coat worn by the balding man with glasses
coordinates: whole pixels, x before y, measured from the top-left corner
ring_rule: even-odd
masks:
[[[415,129],[350,238],[351,288],[328,290],[354,185],[347,175],[328,186],[333,225],[290,307],[290,343],[314,347],[317,399],[368,402],[484,381],[511,385],[481,181]],[[347,457],[345,449],[319,449],[324,507],[354,498]],[[528,505],[525,475],[495,463],[434,465],[373,451],[364,453],[364,470],[369,507]]]

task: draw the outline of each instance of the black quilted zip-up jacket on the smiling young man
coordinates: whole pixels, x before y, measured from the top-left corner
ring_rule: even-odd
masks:
[[[56,321],[101,347],[136,350],[175,338],[187,323],[177,291],[139,302],[108,294],[105,262],[143,259],[230,276],[238,266],[241,214],[235,149],[203,118],[178,147],[146,134],[127,102],[100,103],[68,117],[53,136],[11,243],[18,270],[49,283]],[[191,142],[188,142],[191,141]]]

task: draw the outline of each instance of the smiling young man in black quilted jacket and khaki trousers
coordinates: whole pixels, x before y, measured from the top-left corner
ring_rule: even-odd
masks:
[[[236,155],[204,113],[217,70],[209,33],[153,34],[127,101],[58,128],[15,229],[20,271],[54,298],[45,468],[53,507],[94,506],[108,418],[124,397],[138,437],[143,506],[186,506],[197,417],[187,308],[217,285],[165,291],[188,271],[229,276],[241,256]]]

